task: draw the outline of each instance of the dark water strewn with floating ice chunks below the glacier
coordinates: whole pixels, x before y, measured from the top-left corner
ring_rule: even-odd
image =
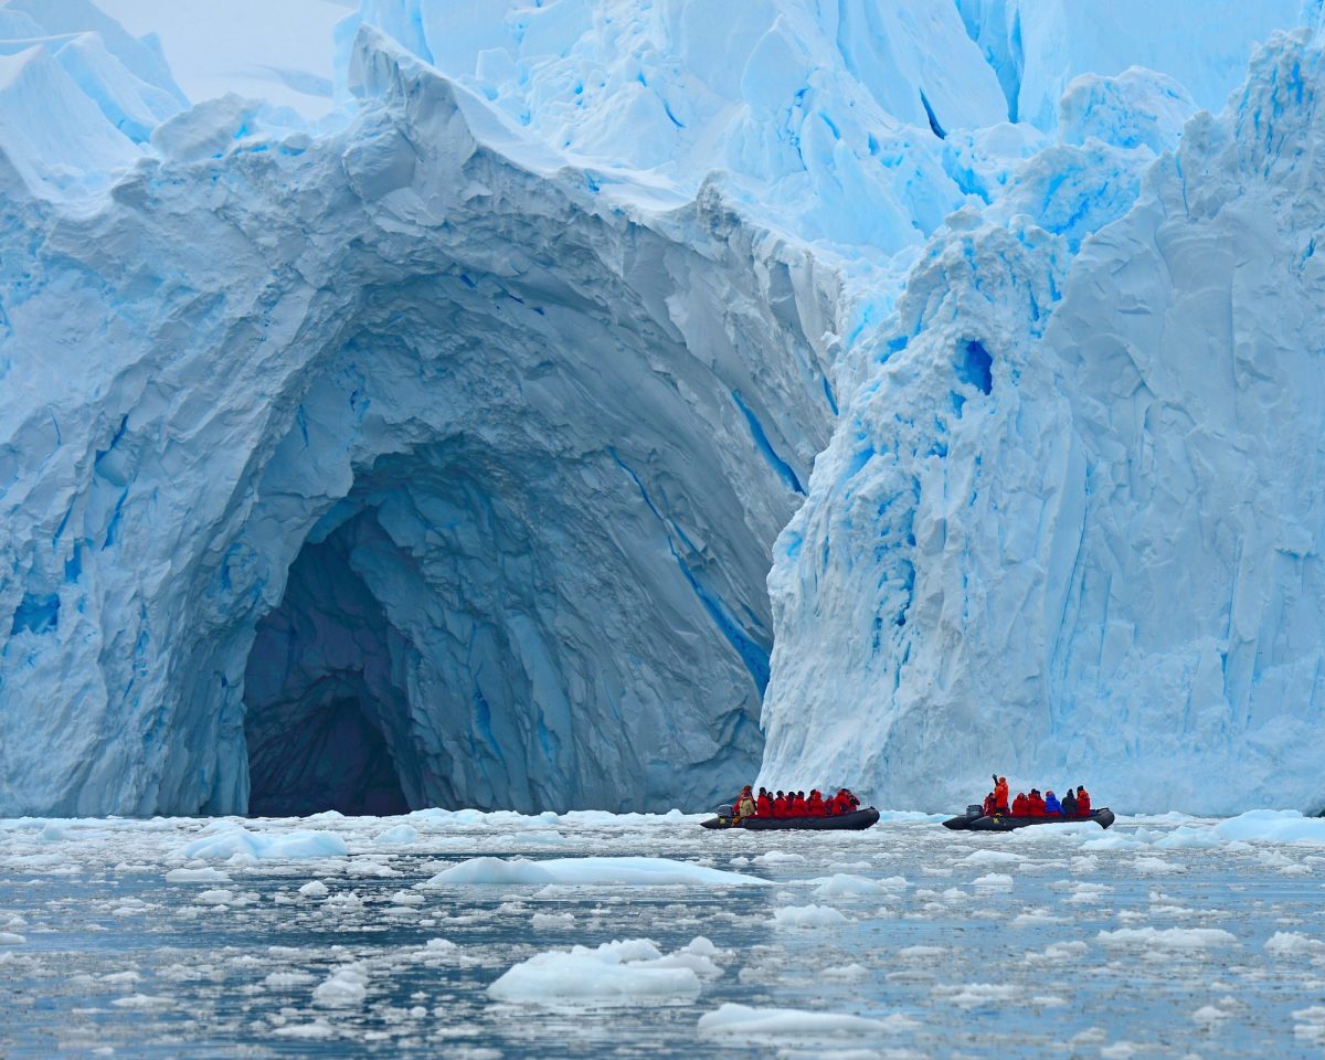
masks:
[[[1125,818],[1108,836],[1126,848],[1092,853],[1097,827],[249,819],[269,849],[317,832],[346,853],[232,857],[227,881],[201,882],[178,874],[196,864],[184,851],[238,822],[3,820],[0,1052],[281,1052],[290,1039],[355,1056],[1308,1055],[1325,1027],[1325,859],[1317,844],[1223,835],[1255,822]],[[400,827],[417,839],[382,841]],[[549,857],[553,829],[574,836],[572,856]],[[1210,845],[1166,845],[1183,831]],[[583,872],[575,885],[420,886],[493,857]],[[599,871],[660,859],[692,881]],[[729,871],[696,885],[710,863]],[[982,886],[991,867],[1014,886]],[[780,926],[806,909],[832,922]]]

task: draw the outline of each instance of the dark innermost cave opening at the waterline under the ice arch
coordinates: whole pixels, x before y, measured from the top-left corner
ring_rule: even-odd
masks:
[[[244,678],[250,815],[411,808],[399,632],[354,562],[380,534],[368,509],[310,538],[257,627]]]

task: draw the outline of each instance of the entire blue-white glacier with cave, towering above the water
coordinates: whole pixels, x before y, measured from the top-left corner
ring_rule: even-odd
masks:
[[[1320,808],[1322,16],[1179,7],[11,0],[0,812]]]

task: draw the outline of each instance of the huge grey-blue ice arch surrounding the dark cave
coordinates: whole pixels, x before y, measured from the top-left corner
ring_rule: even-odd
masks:
[[[0,717],[32,749],[11,812],[242,812],[250,747],[311,746],[314,704],[358,705],[409,806],[702,804],[758,761],[832,273],[712,191],[645,211],[550,167],[379,37],[356,64],[342,134],[213,158],[188,123],[225,106],[196,109],[97,213],[8,200],[38,233],[17,326],[105,277],[58,347],[99,358],[3,456],[46,484],[5,606],[58,603],[0,657],[11,702],[60,689]],[[281,662],[338,553],[319,591],[384,621],[342,608],[329,643],[375,639]]]

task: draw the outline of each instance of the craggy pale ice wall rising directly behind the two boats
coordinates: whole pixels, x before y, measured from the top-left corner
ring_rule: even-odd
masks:
[[[930,241],[775,550],[765,776],[1325,804],[1322,87],[1279,36],[1177,154],[1137,168],[1106,106],[1116,143],[1018,182],[1049,163],[1075,208]],[[1129,166],[1136,204],[1092,213]]]

